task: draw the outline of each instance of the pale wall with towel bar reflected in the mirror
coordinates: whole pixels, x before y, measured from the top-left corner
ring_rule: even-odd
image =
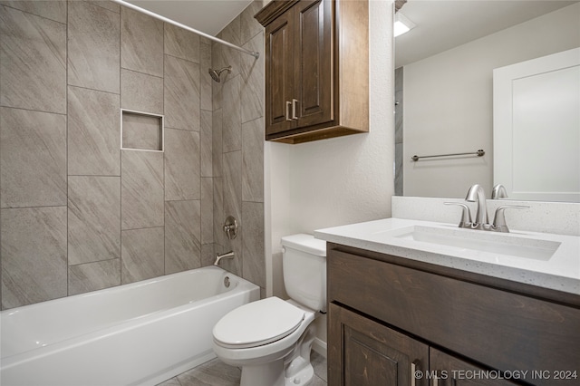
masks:
[[[459,198],[475,183],[490,194],[492,71],[577,47],[579,14],[580,4],[569,5],[404,67],[405,196]],[[415,154],[478,149],[486,155],[411,161]]]

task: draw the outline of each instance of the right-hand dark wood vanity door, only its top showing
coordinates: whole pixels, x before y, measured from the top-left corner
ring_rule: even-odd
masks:
[[[515,386],[500,379],[499,372],[488,371],[470,362],[430,347],[430,379],[432,386]],[[437,378],[432,374],[437,374]],[[518,376],[519,373],[514,373]]]

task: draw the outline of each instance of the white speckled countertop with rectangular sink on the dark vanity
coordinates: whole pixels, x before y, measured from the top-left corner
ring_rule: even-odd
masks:
[[[427,236],[425,241],[412,239],[413,229]],[[517,229],[500,234],[401,218],[319,229],[314,236],[344,246],[580,294],[580,236]],[[440,239],[451,244],[459,240],[459,244],[442,245]],[[488,250],[482,250],[486,244]],[[497,246],[497,250],[490,251],[489,246]]]

